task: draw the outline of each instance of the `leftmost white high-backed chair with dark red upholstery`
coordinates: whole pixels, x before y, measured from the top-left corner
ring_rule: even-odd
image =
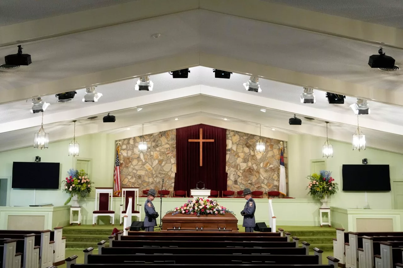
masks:
[[[110,216],[110,223],[115,225],[115,212],[112,210],[112,187],[95,188],[95,210],[92,212],[92,226],[96,225],[98,216]]]

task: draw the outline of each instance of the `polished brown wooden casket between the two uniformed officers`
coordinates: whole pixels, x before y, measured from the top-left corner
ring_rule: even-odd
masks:
[[[231,214],[190,215],[168,212],[162,217],[162,231],[232,231],[237,232],[238,220]]]

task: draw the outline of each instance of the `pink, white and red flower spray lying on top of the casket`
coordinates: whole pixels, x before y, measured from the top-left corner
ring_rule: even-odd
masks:
[[[212,200],[209,198],[200,198],[195,197],[193,200],[187,200],[185,204],[182,206],[176,207],[174,210],[170,210],[168,212],[172,212],[172,215],[175,214],[191,214],[191,215],[218,215],[218,214],[225,214],[225,213],[232,213],[226,209],[224,206],[220,206],[216,200]]]

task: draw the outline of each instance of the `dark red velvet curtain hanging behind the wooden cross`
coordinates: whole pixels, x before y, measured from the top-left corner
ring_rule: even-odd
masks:
[[[200,128],[203,129],[203,139],[214,139],[214,142],[203,142],[203,166],[200,167],[200,144],[189,142],[189,139],[199,139]],[[177,128],[176,132],[176,162],[174,190],[185,190],[190,196],[190,189],[196,188],[198,181],[203,181],[207,189],[226,190],[226,130],[204,124]],[[202,183],[199,184],[202,188]]]

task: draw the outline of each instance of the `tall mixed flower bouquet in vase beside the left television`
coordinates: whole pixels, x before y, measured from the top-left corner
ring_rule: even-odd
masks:
[[[86,197],[91,192],[93,184],[93,181],[88,178],[88,173],[83,169],[70,169],[67,173],[68,177],[64,180],[63,191],[70,194],[70,197],[64,204],[68,204],[73,196]]]

